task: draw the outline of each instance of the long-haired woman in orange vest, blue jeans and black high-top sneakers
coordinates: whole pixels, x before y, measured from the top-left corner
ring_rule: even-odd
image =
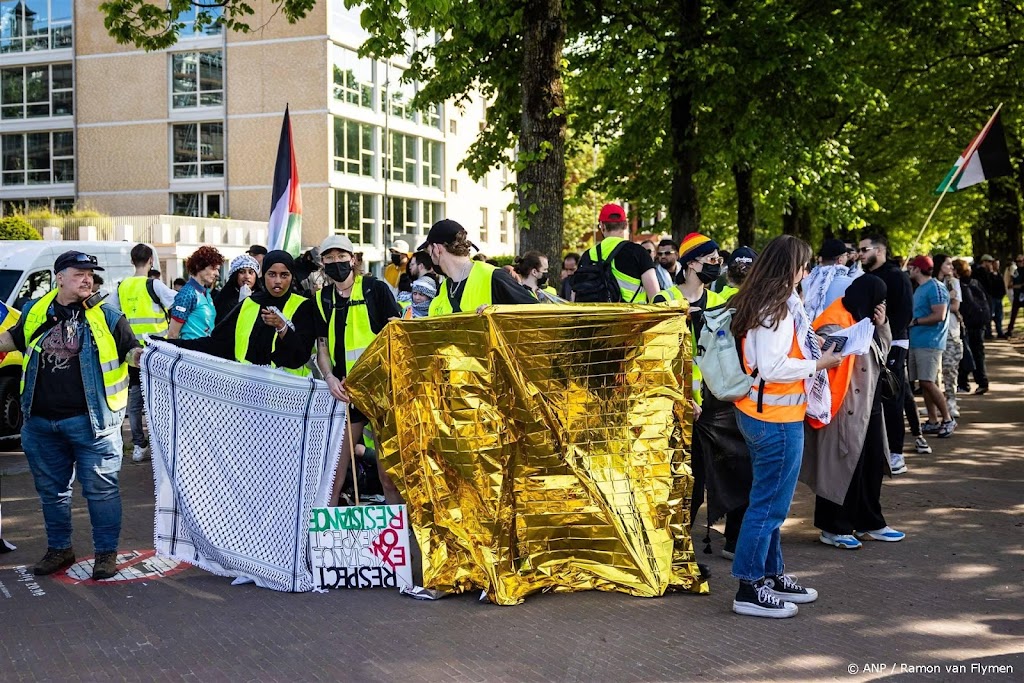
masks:
[[[736,401],[736,421],[754,468],[732,563],[732,575],[739,580],[732,609],[738,614],[793,616],[797,603],[817,599],[816,591],[785,573],[780,532],[804,454],[805,385],[842,360],[835,348],[818,348],[797,294],[810,259],[807,243],[787,234],[775,238],[730,301],[732,333],[743,338],[744,366],[758,372],[750,394]]]

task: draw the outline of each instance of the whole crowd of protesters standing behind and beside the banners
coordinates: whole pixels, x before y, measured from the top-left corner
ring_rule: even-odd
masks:
[[[566,254],[557,282],[548,256],[522,254],[506,268],[474,257],[456,221],[431,226],[412,251],[389,250],[377,279],[342,236],[330,236],[300,258],[254,246],[232,259],[213,247],[185,262],[189,279],[173,289],[153,274],[146,245],[131,252],[135,274],[111,301],[91,304],[95,272],[87,254],[68,252],[54,263],[56,288],[30,302],[16,327],[0,335],[0,350],[25,354],[23,443],[43,504],[46,555],[36,574],[75,561],[71,547],[73,472],[89,504],[96,552],[93,578],[114,575],[120,533],[120,425],[129,417],[132,459],[148,457],[137,364],[141,347],[161,337],[182,348],[243,364],[325,378],[349,402],[345,378],[364,349],[392,321],[479,312],[492,304],[616,302],[684,307],[691,332],[694,475],[691,519],[707,502],[709,526],[725,519],[721,553],[739,582],[733,610],[785,617],[817,598],[786,573],[780,528],[798,480],[815,494],[821,543],[860,548],[898,542],[881,501],[887,474],[907,471],[907,431],[919,454],[929,436],[956,430],[957,394],[988,390],[985,342],[1013,334],[1024,305],[1024,256],[999,273],[989,255],[978,263],[943,254],[916,255],[905,268],[880,234],[858,243],[825,240],[815,257],[791,236],[760,252],[731,253],[693,232],[637,244],[626,211],[600,213],[603,239]],[[999,294],[1001,292],[1001,294]],[[1001,327],[1001,297],[1012,312]],[[723,323],[724,321],[724,323]],[[851,330],[870,342],[844,353]],[[706,329],[735,340],[732,358],[740,391],[712,391],[702,376]],[[852,342],[850,342],[852,343]],[[726,358],[728,360],[728,358]],[[705,370],[707,372],[707,370]],[[717,372],[717,371],[716,371]],[[913,399],[920,392],[926,420]],[[716,395],[721,393],[722,395]],[[344,501],[353,451],[372,453],[366,416],[350,404],[333,501]],[[360,460],[360,462],[364,462]],[[372,457],[369,461],[374,463]],[[383,499],[400,501],[379,465]],[[710,538],[706,539],[710,544]],[[709,545],[710,550],[710,545]]]

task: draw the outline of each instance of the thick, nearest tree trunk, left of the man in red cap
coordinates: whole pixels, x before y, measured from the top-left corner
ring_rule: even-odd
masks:
[[[521,73],[522,131],[519,154],[526,167],[518,174],[524,220],[519,250],[537,250],[552,263],[561,261],[565,200],[565,93],[562,47],[565,19],[561,0],[527,0],[523,11]]]

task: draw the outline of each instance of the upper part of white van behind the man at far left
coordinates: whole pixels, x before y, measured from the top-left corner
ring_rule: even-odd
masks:
[[[118,283],[135,274],[131,264],[134,242],[0,241],[0,301],[22,310],[55,284],[53,261],[66,251],[80,251],[95,256],[103,272],[100,290],[113,294]]]

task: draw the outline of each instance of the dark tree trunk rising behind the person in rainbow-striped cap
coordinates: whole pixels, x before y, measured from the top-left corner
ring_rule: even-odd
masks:
[[[699,0],[680,0],[682,18],[675,49],[678,58],[686,50],[694,49],[701,37]],[[696,173],[700,167],[697,150],[697,118],[694,113],[696,84],[683,80],[686,70],[682,66],[673,70],[669,78],[669,123],[672,135],[672,196],[669,199],[669,218],[672,237],[677,243],[690,232],[700,230],[700,197],[697,193]]]

